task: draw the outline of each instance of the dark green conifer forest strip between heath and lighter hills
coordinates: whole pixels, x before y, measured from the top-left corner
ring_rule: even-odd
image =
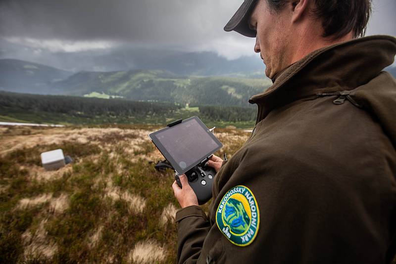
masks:
[[[237,106],[185,107],[173,103],[39,95],[0,91],[0,121],[71,124],[155,124],[199,116],[207,126],[254,126],[256,109]]]

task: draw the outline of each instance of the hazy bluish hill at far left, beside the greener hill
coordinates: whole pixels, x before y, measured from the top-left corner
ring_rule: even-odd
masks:
[[[0,90],[57,93],[49,84],[72,73],[46,65],[14,59],[0,59]]]

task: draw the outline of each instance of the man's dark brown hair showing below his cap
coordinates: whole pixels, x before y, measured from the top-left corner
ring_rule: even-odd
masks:
[[[280,11],[291,0],[266,0],[273,11]],[[339,39],[350,31],[353,37],[363,37],[371,13],[371,0],[313,0],[312,10],[322,21],[323,37]]]

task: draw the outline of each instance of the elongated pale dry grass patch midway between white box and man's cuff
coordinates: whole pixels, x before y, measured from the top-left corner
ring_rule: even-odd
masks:
[[[119,187],[114,187],[110,179],[106,181],[105,197],[114,201],[124,200],[128,203],[129,210],[135,213],[143,213],[146,207],[146,199],[138,194],[122,191]]]

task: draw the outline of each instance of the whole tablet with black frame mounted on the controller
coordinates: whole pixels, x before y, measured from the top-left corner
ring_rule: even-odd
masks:
[[[223,146],[196,116],[148,136],[178,175],[188,172]]]

